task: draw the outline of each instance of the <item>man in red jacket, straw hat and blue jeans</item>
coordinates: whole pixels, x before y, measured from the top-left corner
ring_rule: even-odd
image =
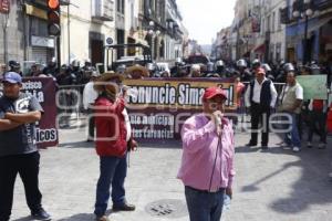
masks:
[[[94,213],[97,221],[105,215],[112,185],[113,211],[133,211],[135,206],[125,199],[124,181],[127,172],[126,152],[137,144],[131,138],[131,125],[125,113],[125,92],[120,94],[124,76],[108,72],[94,85],[98,97],[94,104],[96,125],[96,152],[100,156],[100,178],[96,187]],[[125,116],[126,115],[126,116]]]

